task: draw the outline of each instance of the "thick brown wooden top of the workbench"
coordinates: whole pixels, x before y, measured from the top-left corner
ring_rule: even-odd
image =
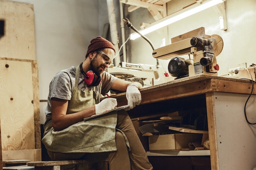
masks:
[[[252,92],[252,82],[247,79],[194,75],[142,88],[140,92],[142,98],[141,104],[146,104],[211,92],[250,94]],[[127,100],[125,94],[126,93],[119,93],[111,97],[117,98],[117,102],[120,106],[126,105]],[[254,88],[252,94],[256,94],[256,88]]]

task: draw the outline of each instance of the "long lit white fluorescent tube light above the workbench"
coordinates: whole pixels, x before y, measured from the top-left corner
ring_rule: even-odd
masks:
[[[200,11],[203,11],[204,9],[213,7],[214,5],[220,4],[222,2],[225,2],[226,0],[206,0],[203,1],[202,3],[197,3],[194,5],[191,5],[190,7],[187,7],[185,9],[182,9],[176,13],[173,13],[171,15],[168,15],[156,22],[153,22],[150,26],[148,26],[145,29],[142,29],[139,31],[142,35],[146,35],[148,33],[151,33],[157,29],[160,29],[164,26],[167,26],[169,24],[172,24],[173,22],[182,20],[183,18],[186,18],[190,15],[193,15],[195,13],[198,13]],[[140,35],[138,33],[132,33],[130,35],[131,40],[135,40],[139,38]]]

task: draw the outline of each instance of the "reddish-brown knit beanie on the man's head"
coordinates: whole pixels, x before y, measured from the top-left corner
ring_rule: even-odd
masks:
[[[100,49],[113,49],[116,53],[115,47],[110,41],[102,37],[97,37],[91,40],[91,44],[88,46],[88,50],[85,57],[87,57],[89,53],[92,53]]]

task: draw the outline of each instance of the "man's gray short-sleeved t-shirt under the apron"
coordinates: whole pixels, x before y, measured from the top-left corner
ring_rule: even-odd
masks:
[[[51,119],[51,99],[53,97],[58,99],[70,100],[72,91],[74,90],[76,83],[76,67],[72,66],[68,69],[62,70],[58,72],[52,79],[49,84],[49,95],[47,107],[45,109],[45,115]],[[78,88],[82,91],[90,91],[92,90],[92,86],[88,86],[84,82],[84,75],[79,73],[79,83]],[[100,97],[102,95],[106,95],[110,90],[112,84],[115,82],[117,77],[111,75],[110,73],[103,71],[101,74],[101,83],[96,86],[96,93],[98,94],[97,100],[100,102]],[[96,101],[97,101],[96,100]]]

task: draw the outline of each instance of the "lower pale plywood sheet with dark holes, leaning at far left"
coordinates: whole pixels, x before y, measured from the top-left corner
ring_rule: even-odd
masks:
[[[35,148],[31,62],[0,60],[2,150]]]

